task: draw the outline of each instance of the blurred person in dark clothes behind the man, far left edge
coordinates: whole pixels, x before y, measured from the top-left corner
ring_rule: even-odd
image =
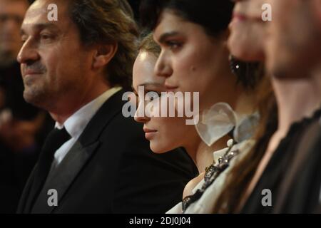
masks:
[[[27,0],[0,0],[0,212],[16,211],[19,196],[52,125],[38,108],[24,101],[16,56]]]

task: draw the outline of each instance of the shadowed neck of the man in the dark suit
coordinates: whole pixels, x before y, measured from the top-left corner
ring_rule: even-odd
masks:
[[[94,88],[90,88],[86,90],[86,93],[83,93],[82,97],[80,97],[81,93],[70,95],[64,99],[60,106],[57,106],[52,111],[49,111],[50,115],[56,122],[63,125],[63,123],[68,120],[68,118],[76,113],[79,109],[81,109],[86,104],[90,103],[92,100],[98,98],[98,96],[102,95],[106,92],[106,90],[110,89],[106,83],[99,83]]]

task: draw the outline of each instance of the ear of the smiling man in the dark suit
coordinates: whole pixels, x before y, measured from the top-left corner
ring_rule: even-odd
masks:
[[[118,49],[117,43],[97,46],[93,56],[93,68],[101,68],[106,66]]]

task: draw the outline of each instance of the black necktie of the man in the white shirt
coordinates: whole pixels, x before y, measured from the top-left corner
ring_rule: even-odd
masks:
[[[55,128],[49,133],[46,141],[44,142],[44,146],[41,149],[41,153],[39,155],[38,168],[34,177],[34,185],[32,187],[32,192],[34,192],[34,199],[38,197],[41,188],[44,186],[46,181],[46,177],[49,174],[49,170],[51,167],[51,163],[54,160],[54,153],[56,150],[63,145],[66,141],[70,139],[70,135],[67,133],[66,129],[63,128],[61,130]]]

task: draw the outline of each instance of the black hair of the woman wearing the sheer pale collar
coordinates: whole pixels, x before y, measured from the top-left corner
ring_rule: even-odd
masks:
[[[233,2],[228,0],[142,0],[141,25],[153,30],[165,9],[186,21],[203,26],[210,36],[226,31],[232,18]]]

